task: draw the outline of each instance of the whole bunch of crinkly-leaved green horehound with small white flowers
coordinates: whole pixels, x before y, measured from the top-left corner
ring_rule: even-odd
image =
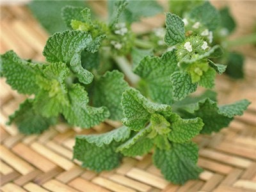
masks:
[[[46,63],[2,54],[1,76],[29,95],[8,124],[40,134],[60,121],[84,129],[120,121],[122,127],[104,134],[76,136],[74,159],[101,172],[116,168],[124,156],[152,152],[165,179],[184,184],[202,172],[191,140],[227,127],[250,102],[220,106],[211,90],[191,95],[198,86],[214,88],[216,74],[226,68],[214,63],[222,54],[212,44],[220,13],[210,3],[195,6],[184,19],[166,13],[166,28],[145,35],[131,31],[138,15],[129,3],[111,1],[108,22],[92,20],[89,8],[63,8],[70,29],[49,37]],[[161,11],[155,1],[144,8]]]

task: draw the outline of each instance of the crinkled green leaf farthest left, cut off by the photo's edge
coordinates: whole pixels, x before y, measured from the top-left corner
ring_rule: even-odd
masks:
[[[31,95],[38,92],[35,79],[41,75],[44,67],[45,65],[21,60],[13,51],[1,55],[1,75],[6,77],[6,83],[19,93]]]

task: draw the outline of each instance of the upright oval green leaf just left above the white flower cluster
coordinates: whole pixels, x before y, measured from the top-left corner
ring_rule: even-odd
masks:
[[[166,34],[164,36],[164,42],[168,46],[176,45],[184,42],[185,28],[182,19],[172,13],[166,13]]]

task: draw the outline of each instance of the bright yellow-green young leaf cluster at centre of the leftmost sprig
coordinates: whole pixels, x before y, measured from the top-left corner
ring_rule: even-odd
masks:
[[[51,63],[43,74],[36,79],[41,89],[35,96],[34,109],[46,117],[58,116],[63,106],[69,106],[66,79],[70,70],[65,63]]]

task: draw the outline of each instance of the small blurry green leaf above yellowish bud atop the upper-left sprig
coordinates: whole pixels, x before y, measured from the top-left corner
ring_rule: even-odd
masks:
[[[68,28],[72,29],[72,20],[83,20],[83,16],[81,14],[83,9],[83,7],[79,6],[64,6],[61,9],[61,17]]]

